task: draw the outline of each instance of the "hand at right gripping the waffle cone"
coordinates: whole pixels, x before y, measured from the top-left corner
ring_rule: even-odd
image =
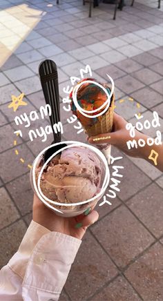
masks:
[[[131,140],[132,138],[129,134],[129,131],[126,130],[126,124],[127,122],[123,117],[114,113],[113,132],[90,137],[88,139],[88,142],[91,144],[102,144],[102,143],[113,144],[114,146],[117,146],[117,148],[122,150],[124,153],[126,153],[126,155],[129,155],[131,157],[141,157],[137,148],[131,148],[131,150],[128,150],[126,142],[128,140]],[[111,138],[105,140],[99,140],[95,142],[93,141],[93,139],[95,138],[107,137],[107,136],[110,136]],[[140,138],[144,139],[145,137],[146,135],[138,132],[138,130],[135,129],[135,137],[134,137],[135,140],[138,140]]]

